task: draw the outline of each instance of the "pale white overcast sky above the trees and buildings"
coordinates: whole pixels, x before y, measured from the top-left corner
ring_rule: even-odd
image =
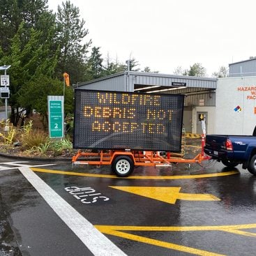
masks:
[[[220,66],[256,56],[255,0],[70,0],[92,45],[125,63],[172,74],[201,63],[211,77]],[[48,0],[54,12],[62,1]]]

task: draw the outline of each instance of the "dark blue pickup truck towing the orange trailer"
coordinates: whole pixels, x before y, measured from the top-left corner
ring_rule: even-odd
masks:
[[[256,175],[256,127],[253,135],[206,135],[204,153],[227,167],[241,164]]]

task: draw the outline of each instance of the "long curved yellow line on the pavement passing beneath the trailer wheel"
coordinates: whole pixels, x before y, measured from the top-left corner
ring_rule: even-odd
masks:
[[[31,170],[33,170],[34,172],[45,172],[45,173],[51,173],[51,174],[86,176],[86,177],[92,177],[92,178],[106,178],[106,179],[202,179],[202,178],[213,178],[213,177],[239,174],[238,171],[231,171],[231,172],[216,172],[213,174],[176,175],[176,176],[128,176],[123,178],[123,177],[118,177],[116,175],[110,175],[110,174],[87,174],[87,173],[81,173],[81,172],[47,170],[47,169],[40,169],[36,167],[31,167]]]

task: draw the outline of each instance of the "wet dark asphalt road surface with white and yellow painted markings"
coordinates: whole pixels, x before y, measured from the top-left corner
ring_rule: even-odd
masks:
[[[108,166],[0,162],[0,255],[255,255],[256,177],[241,167],[121,179]]]

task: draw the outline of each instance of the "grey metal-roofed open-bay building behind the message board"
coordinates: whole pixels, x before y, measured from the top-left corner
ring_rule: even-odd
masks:
[[[185,97],[183,127],[188,133],[202,134],[200,116],[206,133],[215,133],[217,80],[126,71],[78,84],[81,89],[130,91],[142,93],[182,93]]]

